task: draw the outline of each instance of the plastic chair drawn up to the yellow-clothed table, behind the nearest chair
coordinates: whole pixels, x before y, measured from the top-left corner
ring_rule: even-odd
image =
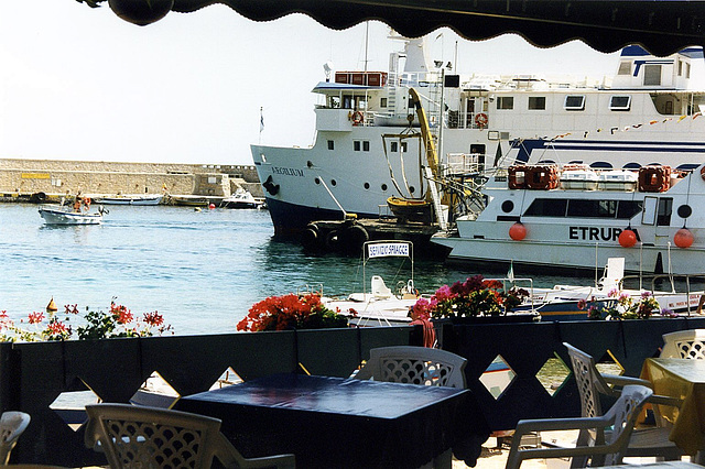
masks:
[[[568,349],[573,373],[577,382],[578,393],[581,394],[581,407],[583,417],[598,417],[603,415],[603,408],[599,400],[600,394],[618,397],[621,392],[619,388],[637,384],[651,388],[651,383],[647,380],[630,377],[619,377],[615,374],[600,373],[595,366],[595,359],[584,351],[571,346],[567,342],[563,345]],[[611,385],[610,385],[611,384]],[[651,395],[649,402],[652,404],[675,405],[681,404],[680,400]],[[658,407],[654,406],[654,413]],[[671,428],[663,426],[663,422],[659,415],[655,415],[657,423],[662,426],[652,428],[636,429],[626,449],[627,456],[633,457],[658,457],[666,460],[676,460],[683,456],[681,450],[673,441],[669,440]],[[578,435],[577,445],[588,445],[597,438],[594,432],[582,430]],[[584,461],[579,458],[574,459],[573,467],[582,467]]]

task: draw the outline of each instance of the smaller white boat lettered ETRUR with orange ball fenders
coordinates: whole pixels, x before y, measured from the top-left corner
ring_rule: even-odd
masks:
[[[482,194],[479,214],[431,238],[451,249],[451,260],[594,269],[625,258],[629,272],[703,272],[705,165],[514,165],[498,170]]]

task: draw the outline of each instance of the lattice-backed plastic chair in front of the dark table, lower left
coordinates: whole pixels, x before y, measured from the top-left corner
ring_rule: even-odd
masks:
[[[85,444],[101,450],[112,469],[293,468],[294,455],[247,459],[220,433],[220,419],[130,404],[86,405]]]

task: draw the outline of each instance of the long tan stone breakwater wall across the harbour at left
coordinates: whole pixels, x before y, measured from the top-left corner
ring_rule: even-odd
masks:
[[[0,159],[0,196],[33,194],[149,194],[229,196],[237,187],[262,196],[252,165],[121,163],[106,161]]]

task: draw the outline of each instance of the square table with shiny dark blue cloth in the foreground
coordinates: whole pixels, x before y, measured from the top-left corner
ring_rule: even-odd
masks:
[[[301,468],[412,468],[451,448],[474,466],[489,436],[468,390],[304,374],[193,394],[175,408],[220,418],[246,457],[293,452]]]

